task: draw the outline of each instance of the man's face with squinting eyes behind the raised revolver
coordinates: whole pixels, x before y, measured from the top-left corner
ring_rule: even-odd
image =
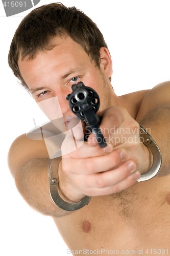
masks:
[[[69,36],[56,37],[54,43],[52,50],[39,52],[33,60],[18,60],[20,73],[35,101],[57,96],[63,116],[73,116],[66,96],[71,93],[72,84],[82,81],[98,92],[100,111],[107,108],[110,84],[104,69],[95,67],[81,45]]]

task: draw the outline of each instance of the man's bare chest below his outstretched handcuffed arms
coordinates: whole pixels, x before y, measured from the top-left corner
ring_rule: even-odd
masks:
[[[167,249],[169,184],[170,177],[166,176],[138,183],[116,195],[92,198],[88,206],[55,219],[55,223],[72,250],[115,248],[135,250],[137,255],[139,248]]]

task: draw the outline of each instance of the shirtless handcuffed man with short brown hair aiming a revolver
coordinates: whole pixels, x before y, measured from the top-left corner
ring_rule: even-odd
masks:
[[[92,87],[101,99],[100,127],[108,142],[100,148],[91,133],[77,150],[53,159],[62,199],[74,203],[92,197],[84,207],[67,211],[57,207],[49,193],[50,158],[44,141],[21,135],[11,145],[9,167],[23,198],[53,217],[75,254],[87,254],[86,249],[103,255],[113,254],[113,249],[114,254],[170,253],[170,83],[116,96],[101,32],[85,14],[62,4],[39,7],[22,20],[9,65],[37,103],[57,96],[64,117],[74,116],[66,100],[71,85],[82,81]],[[157,160],[141,143],[139,124],[149,129],[162,154],[158,175],[142,182],[136,181]],[[115,133],[108,132],[113,129]],[[68,144],[69,138],[61,150]]]

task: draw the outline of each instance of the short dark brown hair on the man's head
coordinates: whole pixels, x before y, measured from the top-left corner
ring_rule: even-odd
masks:
[[[50,42],[57,35],[69,35],[100,67],[100,48],[107,47],[107,44],[96,24],[76,7],[67,8],[61,3],[43,5],[22,19],[8,55],[10,68],[28,91],[19,72],[19,57],[31,60],[37,52],[52,49]]]

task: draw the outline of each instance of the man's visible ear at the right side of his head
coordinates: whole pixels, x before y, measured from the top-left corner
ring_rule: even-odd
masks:
[[[111,77],[113,73],[112,60],[110,57],[109,50],[106,47],[101,47],[100,49],[100,68],[105,72],[107,77]]]

